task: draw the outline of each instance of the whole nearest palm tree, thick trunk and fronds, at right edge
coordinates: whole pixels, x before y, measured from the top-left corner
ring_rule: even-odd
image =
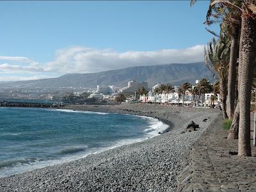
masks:
[[[241,22],[241,73],[239,73],[239,137],[238,155],[252,156],[250,145],[250,101],[253,65],[256,54],[256,0],[244,0],[241,6],[235,1],[214,1],[227,7],[235,7],[242,13]]]

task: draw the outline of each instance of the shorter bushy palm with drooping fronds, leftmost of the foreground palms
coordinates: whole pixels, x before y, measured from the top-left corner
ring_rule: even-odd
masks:
[[[205,65],[211,70],[214,75],[218,76],[220,82],[220,95],[222,100],[223,118],[228,118],[227,115],[227,76],[228,76],[228,61],[229,49],[228,39],[223,32],[220,32],[218,41],[215,38],[205,47]]]

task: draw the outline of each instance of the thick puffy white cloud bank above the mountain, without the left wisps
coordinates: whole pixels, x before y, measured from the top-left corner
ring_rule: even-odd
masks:
[[[111,49],[71,47],[56,52],[56,59],[45,65],[46,71],[100,72],[116,68],[168,63],[192,63],[204,61],[204,45],[187,49],[163,49],[160,51],[116,52]]]

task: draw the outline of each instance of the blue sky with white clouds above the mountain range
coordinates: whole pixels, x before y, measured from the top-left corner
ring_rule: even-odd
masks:
[[[209,1],[1,1],[0,81],[204,61]],[[214,29],[214,28],[213,28]]]

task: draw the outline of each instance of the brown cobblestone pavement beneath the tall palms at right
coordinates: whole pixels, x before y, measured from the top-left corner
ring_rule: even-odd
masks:
[[[252,157],[237,156],[238,140],[227,140],[221,119],[184,156],[177,191],[256,191],[256,147]]]

